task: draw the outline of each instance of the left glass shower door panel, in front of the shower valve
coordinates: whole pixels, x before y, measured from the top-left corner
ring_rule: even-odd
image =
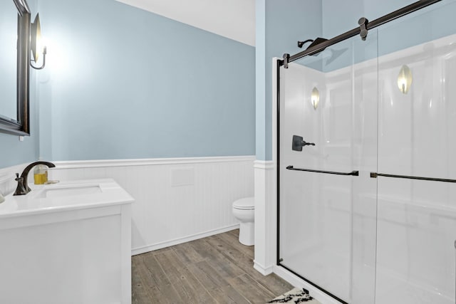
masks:
[[[280,68],[280,265],[346,303],[374,296],[377,65],[370,31]]]

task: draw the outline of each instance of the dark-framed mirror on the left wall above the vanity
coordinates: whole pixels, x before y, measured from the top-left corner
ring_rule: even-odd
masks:
[[[3,1],[7,2],[7,1]],[[14,100],[14,89],[11,90],[11,94],[1,94],[0,95],[0,132],[9,133],[13,135],[30,135],[30,119],[29,119],[29,101],[28,101],[28,88],[29,88],[29,61],[30,61],[30,19],[31,13],[28,8],[26,0],[13,0],[14,5],[16,6],[16,12],[14,10],[2,10],[7,11],[8,14],[16,13],[17,16],[17,42],[11,41],[11,39],[0,40],[0,43],[11,43],[11,45],[6,45],[6,49],[16,48],[16,58],[14,55],[13,58],[6,59],[6,62],[9,61],[11,65],[14,66],[14,61],[16,61],[16,73],[13,70],[9,73],[4,73],[8,71],[8,68],[2,69],[3,77],[7,81],[2,81],[2,83],[14,83],[16,79],[16,100]],[[6,5],[6,4],[2,4]],[[12,18],[4,18],[2,20],[14,20]],[[14,21],[13,21],[14,22]],[[14,24],[11,26],[4,26],[4,28],[11,28],[13,33],[5,33],[5,36],[15,36],[14,35]],[[16,46],[14,45],[16,44]],[[2,46],[0,46],[2,47]],[[14,60],[15,59],[15,60]],[[16,76],[16,77],[15,77]],[[5,91],[5,90],[4,90]],[[14,109],[16,105],[16,109]],[[16,115],[14,115],[16,113]]]

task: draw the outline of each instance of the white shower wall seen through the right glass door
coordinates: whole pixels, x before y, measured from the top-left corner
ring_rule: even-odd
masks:
[[[379,80],[378,172],[456,179],[456,36],[380,57]],[[455,183],[378,177],[376,304],[455,303],[455,198]]]

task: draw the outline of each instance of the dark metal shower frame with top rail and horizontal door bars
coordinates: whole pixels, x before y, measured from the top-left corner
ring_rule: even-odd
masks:
[[[368,35],[368,31],[373,29],[373,28],[376,28],[378,26],[381,26],[385,23],[388,23],[390,21],[393,21],[395,19],[398,19],[402,16],[405,16],[405,15],[408,15],[410,13],[413,13],[414,11],[418,11],[420,9],[423,9],[425,8],[426,6],[430,6],[432,4],[435,4],[437,2],[440,2],[441,0],[420,0],[420,1],[417,1],[413,4],[410,4],[408,6],[404,6],[402,9],[398,9],[397,11],[393,11],[392,13],[390,14],[386,14],[385,16],[381,16],[380,18],[378,19],[375,19],[371,22],[368,21],[368,19],[366,18],[361,18],[359,19],[358,21],[358,24],[360,25],[358,28],[353,28],[351,31],[347,31],[346,33],[342,33],[341,35],[339,36],[336,36],[334,38],[331,38],[329,40],[326,40],[326,41],[323,41],[321,43],[318,43],[314,46],[309,46],[309,48],[307,48],[305,51],[302,51],[300,53],[296,53],[292,56],[290,56],[288,53],[285,53],[284,56],[283,56],[283,59],[282,60],[278,60],[276,62],[277,64],[277,69],[276,69],[276,81],[277,81],[277,90],[276,90],[276,103],[277,103],[277,112],[276,112],[276,120],[277,120],[277,133],[276,133],[276,140],[277,140],[277,147],[276,147],[276,201],[277,201],[277,226],[276,226],[276,265],[278,266],[281,266],[283,268],[285,268],[287,271],[293,273],[295,276],[298,276],[299,278],[301,278],[302,280],[306,281],[307,283],[313,285],[314,287],[318,288],[318,290],[321,290],[323,291],[323,293],[326,293],[327,295],[331,296],[332,298],[335,298],[336,300],[340,301],[341,303],[344,303],[344,304],[348,304],[346,303],[344,300],[342,300],[341,298],[338,298],[336,295],[333,295],[332,293],[328,292],[328,290],[325,290],[323,288],[321,288],[320,286],[316,285],[315,283],[309,281],[308,279],[304,278],[303,276],[301,276],[299,273],[296,273],[294,272],[293,270],[291,270],[290,268],[284,266],[284,265],[281,265],[281,258],[280,258],[280,248],[279,248],[279,244],[280,244],[280,229],[279,229],[279,226],[280,226],[280,188],[279,188],[279,184],[280,184],[280,170],[279,170],[279,159],[280,159],[280,145],[279,145],[279,142],[280,142],[280,85],[279,85],[279,80],[280,80],[280,67],[281,65],[284,65],[284,68],[288,68],[288,63],[291,63],[293,61],[296,61],[298,59],[301,59],[305,56],[309,56],[309,55],[316,55],[317,53],[323,51],[325,48],[327,48],[328,46],[332,46],[336,43],[339,43],[341,41],[344,41],[348,38],[351,38],[351,37],[354,37],[356,35],[360,35],[361,36],[361,39],[363,40],[366,40],[366,37]],[[304,44],[304,43],[303,43]],[[298,171],[309,171],[309,172],[313,172],[312,170],[310,169],[299,169],[299,168],[294,168],[292,166],[289,166],[287,167],[286,169],[294,169],[294,170],[298,170]],[[317,170],[316,170],[317,171]],[[316,172],[315,171],[315,172]],[[349,172],[348,174],[345,173],[343,175],[352,175],[352,176],[358,176],[358,172],[356,171],[353,171],[353,172]],[[323,174],[340,174],[340,172],[318,172],[318,173],[323,173]],[[428,178],[422,178],[422,177],[405,177],[405,176],[396,176],[396,175],[390,175],[390,174],[378,174],[376,172],[371,172],[371,177],[396,177],[396,178],[409,178],[409,179],[428,179]],[[454,182],[453,180],[449,180],[449,179],[431,179],[431,180],[435,180],[437,182]],[[455,245],[456,246],[456,245]]]

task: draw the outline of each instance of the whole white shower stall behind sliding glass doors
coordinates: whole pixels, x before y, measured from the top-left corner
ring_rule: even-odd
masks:
[[[277,61],[277,263],[341,303],[455,304],[456,2],[425,2]]]

